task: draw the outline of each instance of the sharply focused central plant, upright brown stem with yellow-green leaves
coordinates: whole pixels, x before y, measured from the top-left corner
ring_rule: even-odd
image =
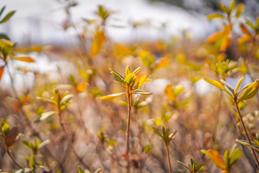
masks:
[[[136,74],[141,70],[141,67],[138,67],[133,73],[131,73],[130,67],[127,66],[125,70],[126,76],[122,76],[118,72],[116,72],[114,69],[111,69],[111,73],[113,74],[113,77],[116,81],[117,84],[123,86],[126,90],[127,93],[116,93],[116,94],[111,94],[111,95],[106,95],[103,97],[98,97],[97,99],[100,100],[105,100],[105,99],[110,99],[113,97],[117,97],[119,95],[126,94],[128,98],[128,117],[127,117],[127,129],[126,129],[126,160],[127,160],[127,169],[129,171],[129,136],[130,136],[130,120],[131,120],[131,107],[132,107],[132,95],[133,94],[142,94],[142,95],[151,95],[152,93],[147,93],[146,91],[139,90],[139,88],[144,85],[146,82],[151,81],[149,78],[149,75],[143,76],[138,83],[134,86],[136,82]]]

